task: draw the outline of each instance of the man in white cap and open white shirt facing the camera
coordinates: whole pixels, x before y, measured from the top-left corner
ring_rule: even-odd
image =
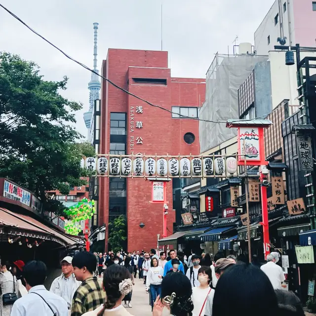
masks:
[[[53,280],[50,287],[51,292],[61,296],[67,302],[69,315],[73,296],[81,284],[80,281],[77,281],[74,275],[72,261],[73,258],[70,256],[65,257],[61,261],[62,274]]]

